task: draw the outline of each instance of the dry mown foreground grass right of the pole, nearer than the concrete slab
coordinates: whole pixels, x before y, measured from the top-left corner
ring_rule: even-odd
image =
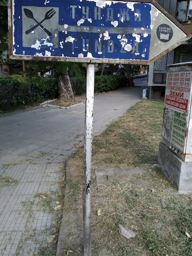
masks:
[[[94,178],[94,175],[93,175]],[[101,216],[97,216],[97,209]],[[118,224],[136,233],[126,240]],[[92,246],[108,255],[191,255],[192,198],[176,192],[158,168],[92,186]],[[92,252],[92,255],[98,255]]]

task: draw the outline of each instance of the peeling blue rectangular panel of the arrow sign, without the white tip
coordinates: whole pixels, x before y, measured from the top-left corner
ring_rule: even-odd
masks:
[[[147,60],[151,18],[144,15],[150,14],[151,4],[74,0],[54,2],[54,6],[47,0],[43,4],[26,0],[25,6],[14,6],[22,21],[18,26],[23,28],[22,37],[14,33],[16,45],[22,45],[14,45],[15,54],[133,60],[141,54]]]

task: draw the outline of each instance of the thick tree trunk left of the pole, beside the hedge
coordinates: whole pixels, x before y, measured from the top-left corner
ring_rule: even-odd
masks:
[[[68,71],[64,74],[56,72],[55,76],[58,83],[59,100],[65,102],[75,102],[75,97],[71,87]]]

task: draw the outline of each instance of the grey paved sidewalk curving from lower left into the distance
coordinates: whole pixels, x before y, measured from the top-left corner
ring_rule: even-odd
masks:
[[[94,135],[138,102],[142,89],[96,95]],[[42,210],[40,194],[58,193],[60,166],[83,144],[84,111],[83,104],[0,118],[0,256],[41,255],[48,245],[55,216]]]

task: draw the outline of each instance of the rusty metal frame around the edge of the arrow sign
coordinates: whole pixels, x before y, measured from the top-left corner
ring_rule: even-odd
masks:
[[[110,0],[106,0],[110,1]],[[116,2],[116,0],[114,1]],[[117,1],[118,2],[118,1]],[[129,59],[107,59],[107,58],[73,58],[73,57],[56,57],[56,56],[27,56],[27,55],[15,55],[13,50],[13,40],[14,40],[14,23],[13,23],[13,6],[14,0],[8,0],[8,36],[9,36],[9,56],[11,59],[17,60],[39,60],[39,61],[62,61],[62,62],[86,62],[86,63],[113,63],[113,64],[151,64],[158,58],[162,57],[166,53],[170,52],[186,40],[190,39],[192,35],[186,30],[179,22],[177,22],[168,12],[166,12],[156,0],[121,0],[121,2],[134,2],[134,3],[146,3],[152,4],[156,7],[162,14],[166,16],[175,26],[177,26],[186,37],[179,40],[160,54],[154,56],[150,60],[129,60]]]

